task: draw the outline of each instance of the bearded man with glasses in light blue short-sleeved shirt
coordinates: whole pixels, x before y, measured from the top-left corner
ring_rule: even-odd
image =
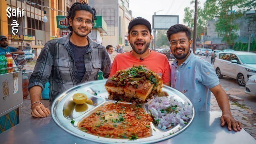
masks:
[[[236,121],[230,111],[228,96],[220,86],[212,65],[190,51],[191,31],[183,24],[175,24],[167,30],[170,48],[175,59],[171,64],[171,86],[192,102],[195,110],[210,111],[211,92],[222,110],[221,126],[225,123],[228,130],[240,131],[242,124]]]

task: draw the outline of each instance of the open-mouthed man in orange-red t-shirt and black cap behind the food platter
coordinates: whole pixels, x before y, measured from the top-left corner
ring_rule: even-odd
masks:
[[[171,69],[167,57],[149,49],[152,41],[151,32],[151,24],[148,20],[137,17],[130,21],[127,38],[132,50],[116,55],[109,77],[113,76],[118,70],[124,70],[133,65],[143,65],[159,74],[163,83],[170,86]]]

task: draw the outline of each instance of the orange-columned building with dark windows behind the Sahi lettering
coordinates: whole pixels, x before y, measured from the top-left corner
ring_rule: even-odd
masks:
[[[24,50],[28,47],[32,49],[35,56],[38,56],[44,44],[51,38],[58,37],[58,28],[56,24],[56,16],[66,15],[72,4],[78,0],[28,0],[35,4],[28,4],[24,0],[0,0],[0,35],[8,37],[9,46]],[[88,0],[85,0],[88,2]],[[56,10],[62,10],[65,12],[59,12],[56,10],[49,10],[42,8],[36,4],[42,6],[48,6]],[[24,9],[24,16],[18,18],[17,16],[7,17],[6,11],[9,7],[20,11]],[[43,22],[44,10],[46,10],[46,16],[48,21]],[[24,40],[14,38],[12,36],[12,22],[16,20],[18,26],[18,36],[30,36],[32,39]],[[27,48],[26,48],[27,49]]]

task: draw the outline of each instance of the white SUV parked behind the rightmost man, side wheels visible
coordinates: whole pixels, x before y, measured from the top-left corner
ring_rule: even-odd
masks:
[[[235,78],[240,86],[245,86],[248,78],[256,74],[256,54],[253,52],[219,52],[213,65],[218,78]]]

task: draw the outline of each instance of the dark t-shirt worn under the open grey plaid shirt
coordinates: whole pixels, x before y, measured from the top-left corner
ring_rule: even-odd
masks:
[[[85,65],[84,65],[84,54],[86,50],[89,47],[89,44],[86,46],[76,46],[70,42],[70,45],[72,46],[72,52],[74,54],[75,58],[75,65],[76,69],[78,71],[78,74],[80,76],[80,82],[82,81],[85,73]]]

